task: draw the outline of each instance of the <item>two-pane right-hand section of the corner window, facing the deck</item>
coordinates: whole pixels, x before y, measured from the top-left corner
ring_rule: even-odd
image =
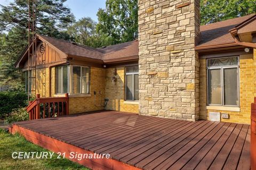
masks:
[[[89,67],[73,66],[72,68],[72,94],[89,94]]]

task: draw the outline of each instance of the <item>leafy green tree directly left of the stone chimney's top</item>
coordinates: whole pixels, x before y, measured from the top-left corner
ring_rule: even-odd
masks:
[[[138,37],[138,0],[107,0],[100,8],[97,32],[108,37],[108,44],[123,43]]]

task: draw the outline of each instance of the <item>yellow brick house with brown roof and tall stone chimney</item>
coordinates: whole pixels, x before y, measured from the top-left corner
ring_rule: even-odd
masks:
[[[154,3],[139,4],[138,40],[95,49],[37,35],[30,64],[28,47],[15,64],[27,77],[30,65],[36,80],[26,89],[68,93],[69,114],[109,109],[250,124],[256,15],[199,26],[198,1]]]

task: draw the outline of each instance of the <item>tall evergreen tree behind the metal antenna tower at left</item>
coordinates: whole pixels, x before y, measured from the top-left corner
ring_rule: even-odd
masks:
[[[70,37],[59,28],[65,28],[73,20],[69,8],[63,6],[66,0],[37,1],[37,33],[66,38]],[[9,5],[1,5],[0,11],[0,83],[16,86],[23,81],[22,73],[14,63],[28,41],[27,0],[15,0]]]

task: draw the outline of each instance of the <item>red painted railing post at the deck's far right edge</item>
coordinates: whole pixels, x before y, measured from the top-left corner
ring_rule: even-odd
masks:
[[[251,169],[256,170],[256,98],[251,110]]]

